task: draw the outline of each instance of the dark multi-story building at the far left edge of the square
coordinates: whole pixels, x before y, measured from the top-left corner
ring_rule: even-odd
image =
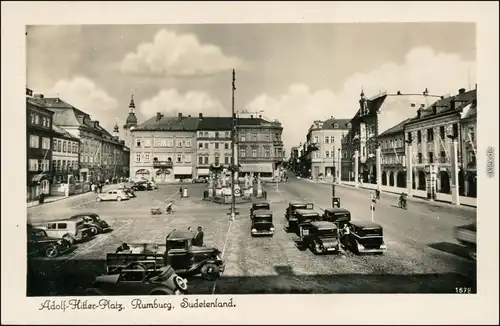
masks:
[[[26,89],[26,176],[28,200],[50,194],[52,179],[52,120],[54,113],[32,98]]]

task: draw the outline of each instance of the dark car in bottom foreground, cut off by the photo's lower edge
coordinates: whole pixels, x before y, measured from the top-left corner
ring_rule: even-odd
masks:
[[[150,266],[148,266],[150,265]],[[152,265],[152,266],[151,266]],[[187,281],[171,266],[135,261],[116,274],[98,276],[86,295],[181,295],[187,293]]]

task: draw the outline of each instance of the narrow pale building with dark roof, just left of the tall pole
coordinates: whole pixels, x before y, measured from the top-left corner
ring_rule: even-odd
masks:
[[[197,176],[207,176],[211,164],[231,164],[231,117],[198,116],[196,134]]]

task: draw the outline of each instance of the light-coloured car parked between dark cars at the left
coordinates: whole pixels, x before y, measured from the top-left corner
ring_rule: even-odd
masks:
[[[93,234],[88,227],[85,226],[83,219],[77,221],[53,221],[47,224],[38,226],[39,229],[45,230],[47,235],[52,238],[62,238],[71,243],[83,242],[90,239]]]

